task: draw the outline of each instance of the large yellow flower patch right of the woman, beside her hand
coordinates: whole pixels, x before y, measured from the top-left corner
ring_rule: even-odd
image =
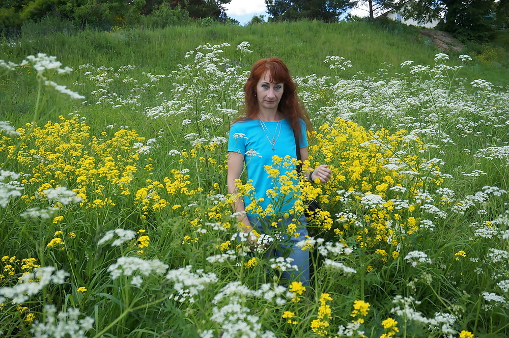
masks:
[[[438,187],[443,175],[435,162],[419,157],[425,147],[417,136],[405,130],[393,134],[365,130],[337,118],[312,132],[310,139],[311,166],[326,163],[332,171],[332,178],[320,184],[319,202],[328,210],[357,210],[357,218],[338,217],[335,234],[356,234],[361,246],[371,248],[399,244],[395,229],[403,237],[419,229],[420,206],[430,202],[423,202],[418,194]],[[366,206],[361,203],[364,195],[378,196],[381,202]],[[354,226],[358,222],[363,229]]]

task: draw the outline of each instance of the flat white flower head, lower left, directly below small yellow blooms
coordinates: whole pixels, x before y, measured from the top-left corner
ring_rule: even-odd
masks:
[[[158,259],[147,261],[138,257],[120,257],[117,259],[117,263],[108,267],[111,279],[116,279],[122,275],[133,276],[131,284],[137,287],[143,283],[142,276],[162,275],[167,269],[168,266]]]

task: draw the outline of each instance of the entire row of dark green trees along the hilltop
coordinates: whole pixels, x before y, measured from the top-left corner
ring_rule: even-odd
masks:
[[[245,0],[249,1],[249,0]],[[43,17],[90,24],[167,26],[193,19],[238,21],[225,14],[231,0],[0,0],[0,31]],[[265,0],[269,21],[302,19],[337,22],[354,7],[366,8],[369,18],[396,9],[405,19],[441,18],[438,29],[469,40],[486,40],[496,27],[509,22],[509,0]],[[253,23],[263,17],[253,17]]]

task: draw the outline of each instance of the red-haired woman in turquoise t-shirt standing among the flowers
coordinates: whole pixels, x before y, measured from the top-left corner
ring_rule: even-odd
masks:
[[[233,208],[243,223],[242,231],[249,234],[253,228],[263,232],[262,228],[269,226],[269,221],[272,221],[260,210],[269,207],[271,210],[277,209],[274,212],[278,215],[283,215],[292,208],[295,201],[292,196],[285,196],[279,201],[267,196],[266,191],[274,189],[275,184],[267,175],[265,166],[272,165],[273,156],[297,158],[297,143],[301,160],[307,160],[306,129],[311,124],[299,103],[296,86],[287,66],[277,58],[261,59],[254,63],[244,85],[244,94],[245,116],[234,122],[230,129],[227,183],[228,191],[235,193],[235,181],[240,178],[245,165],[247,178],[252,180],[254,196],[244,196],[234,203]],[[312,181],[319,179],[327,182],[331,171],[327,165],[320,165],[315,170],[303,168],[303,175]],[[309,253],[295,247],[307,236],[306,218],[304,215],[292,215],[278,219],[277,226],[271,222],[270,227],[283,229],[283,232],[291,222],[297,223],[299,236],[286,238],[290,244],[281,247],[281,250],[290,251],[289,257],[293,258],[292,264],[299,269],[300,281],[309,285]],[[294,276],[284,273],[283,277],[293,279]]]

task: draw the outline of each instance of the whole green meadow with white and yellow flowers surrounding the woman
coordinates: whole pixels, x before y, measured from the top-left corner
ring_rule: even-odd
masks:
[[[362,22],[30,33],[0,40],[2,336],[509,334],[500,49]],[[267,168],[271,193],[322,207],[309,287],[266,256],[295,230],[248,245],[226,187],[243,84],[271,56],[314,125],[309,164],[333,172],[295,185],[294,160]]]

